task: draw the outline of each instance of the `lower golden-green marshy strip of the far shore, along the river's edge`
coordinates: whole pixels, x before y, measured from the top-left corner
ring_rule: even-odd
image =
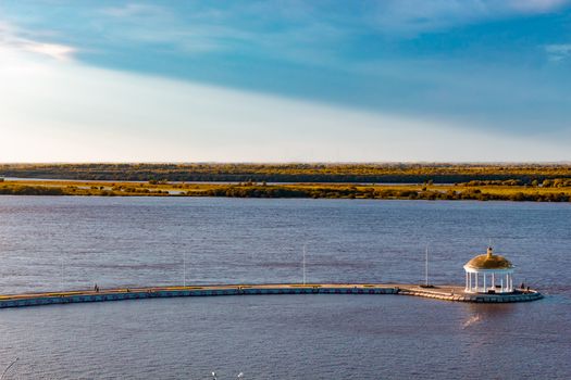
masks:
[[[409,199],[479,201],[571,201],[571,181],[550,186],[504,185],[348,185],[348,183],[173,183],[128,181],[4,180],[0,194],[103,195],[103,197],[231,197],[231,198],[326,198]],[[554,185],[557,185],[554,187]],[[561,186],[559,186],[561,185]]]

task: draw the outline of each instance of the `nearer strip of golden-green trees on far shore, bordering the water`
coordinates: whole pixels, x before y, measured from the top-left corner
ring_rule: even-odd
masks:
[[[492,190],[491,190],[492,189]],[[406,199],[406,200],[476,200],[476,201],[534,201],[569,202],[571,191],[493,191],[493,188],[473,187],[373,187],[327,185],[194,185],[171,193],[159,188],[112,186],[29,186],[0,185],[0,194],[11,195],[100,195],[100,197],[228,197],[228,198],[312,198],[312,199]],[[526,189],[529,190],[529,189]]]

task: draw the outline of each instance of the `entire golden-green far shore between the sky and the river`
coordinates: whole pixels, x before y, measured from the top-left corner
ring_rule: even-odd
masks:
[[[0,194],[569,202],[571,164],[0,164]]]

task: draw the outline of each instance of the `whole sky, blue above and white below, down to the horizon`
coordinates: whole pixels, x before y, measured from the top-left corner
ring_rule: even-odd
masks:
[[[0,0],[0,162],[571,161],[571,0]]]

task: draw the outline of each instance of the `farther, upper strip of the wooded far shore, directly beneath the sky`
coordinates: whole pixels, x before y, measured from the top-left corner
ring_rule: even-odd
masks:
[[[112,181],[457,183],[571,178],[571,164],[0,164],[0,177]]]

